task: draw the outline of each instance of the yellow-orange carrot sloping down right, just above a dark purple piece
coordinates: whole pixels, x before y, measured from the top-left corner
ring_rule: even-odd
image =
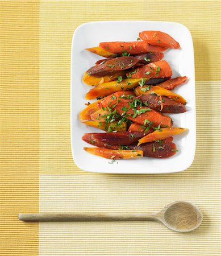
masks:
[[[157,94],[158,96],[167,96],[169,98],[171,98],[174,101],[180,102],[182,104],[186,104],[186,100],[185,98],[183,98],[182,96],[180,96],[177,93],[172,92],[171,90],[167,90],[163,87],[160,87],[158,85],[156,86],[151,86],[151,88],[149,88],[148,86],[137,86],[135,93],[137,96],[141,95],[141,94]]]

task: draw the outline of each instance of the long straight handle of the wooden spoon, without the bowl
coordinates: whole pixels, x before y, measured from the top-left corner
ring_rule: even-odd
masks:
[[[144,213],[20,213],[22,221],[157,221],[158,218]]]

